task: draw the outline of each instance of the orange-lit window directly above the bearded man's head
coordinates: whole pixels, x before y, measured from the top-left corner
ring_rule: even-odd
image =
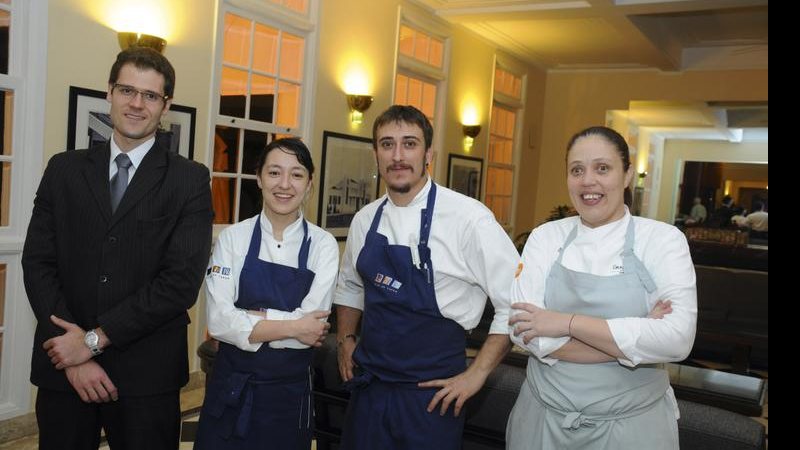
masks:
[[[445,51],[447,40],[417,24],[403,22],[397,39],[397,76],[394,84],[394,104],[411,105],[422,111],[437,128],[441,103],[440,92],[445,81]],[[434,139],[437,136],[434,133]],[[436,161],[428,167],[435,174]]]

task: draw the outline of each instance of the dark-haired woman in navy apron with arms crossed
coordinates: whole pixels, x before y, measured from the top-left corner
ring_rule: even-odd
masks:
[[[303,218],[314,165],[298,139],[258,161],[263,211],[225,229],[206,276],[220,341],[196,449],[309,449],[311,352],[328,333],[336,240]]]

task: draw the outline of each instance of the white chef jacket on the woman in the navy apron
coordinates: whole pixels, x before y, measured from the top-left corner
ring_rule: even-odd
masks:
[[[258,259],[289,267],[297,267],[297,255],[303,240],[303,216],[286,227],[283,241],[278,241],[272,234],[272,224],[262,211],[261,247]],[[235,345],[236,347],[255,352],[261,343],[250,343],[249,336],[253,327],[263,320],[244,309],[238,309],[234,303],[239,298],[239,274],[244,265],[245,256],[250,246],[256,218],[233,224],[224,229],[217,238],[214,252],[206,271],[206,314],[208,332],[215,339]],[[294,311],[267,310],[269,320],[295,320],[312,311],[329,311],[333,286],[336,282],[336,271],[339,266],[339,245],[336,239],[322,228],[309,223],[308,235],[311,248],[308,254],[308,269],[314,272],[311,290],[303,299],[300,307]],[[212,270],[218,266],[218,270]],[[308,348],[296,339],[271,341],[272,348]]]

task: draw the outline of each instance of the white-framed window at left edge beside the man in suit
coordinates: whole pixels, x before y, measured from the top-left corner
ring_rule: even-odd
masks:
[[[30,411],[35,319],[21,257],[41,178],[47,0],[0,1],[0,420]]]

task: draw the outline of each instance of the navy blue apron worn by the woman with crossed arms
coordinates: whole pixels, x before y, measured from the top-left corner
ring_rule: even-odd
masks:
[[[292,311],[300,306],[314,280],[308,270],[311,239],[303,220],[303,243],[297,268],[261,261],[261,217],[239,275],[235,306]],[[195,449],[311,448],[312,349],[257,352],[220,342],[214,372],[206,389]]]

